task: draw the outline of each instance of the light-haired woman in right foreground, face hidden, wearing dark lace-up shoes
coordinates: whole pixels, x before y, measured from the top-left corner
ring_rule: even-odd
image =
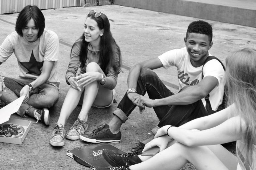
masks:
[[[197,170],[255,170],[256,50],[233,52],[226,64],[228,108],[180,127],[163,126],[142,151],[159,146],[160,152],[153,157],[104,150],[106,161],[118,167],[96,170],[179,170],[187,161]],[[237,158],[218,145],[232,141],[237,141]]]

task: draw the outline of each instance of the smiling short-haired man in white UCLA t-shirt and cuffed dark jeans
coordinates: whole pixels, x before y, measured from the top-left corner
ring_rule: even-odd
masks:
[[[205,21],[190,23],[184,42],[186,47],[167,51],[157,58],[133,66],[127,78],[127,93],[113,112],[113,119],[93,133],[80,136],[80,139],[93,143],[120,142],[120,127],[136,106],[140,107],[141,113],[145,107],[154,108],[160,120],[158,127],[152,130],[154,134],[165,125],[180,126],[192,119],[209,115],[204,100],[208,94],[212,110],[216,111],[224,94],[224,68],[216,59],[208,61],[203,67],[212,46],[211,25]],[[170,66],[177,67],[180,90],[177,94],[167,89],[153,71]],[[144,97],[146,92],[149,98]],[[143,143],[140,142],[133,151],[142,151]]]

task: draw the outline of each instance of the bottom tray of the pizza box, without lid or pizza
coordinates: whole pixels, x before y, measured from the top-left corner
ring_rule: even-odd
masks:
[[[11,123],[11,124],[22,126],[25,129],[25,132],[20,138],[0,137],[0,142],[21,145],[22,142],[24,141],[28,131],[31,128],[32,121],[10,118],[9,121],[7,121],[5,123]]]

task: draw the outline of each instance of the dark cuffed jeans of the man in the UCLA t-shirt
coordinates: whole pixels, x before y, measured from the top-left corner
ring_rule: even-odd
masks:
[[[150,68],[141,70],[137,82],[137,93],[144,96],[146,92],[153,100],[174,95]],[[125,94],[113,114],[124,123],[135,107],[136,105]],[[158,124],[160,128],[165,125],[180,126],[195,118],[209,115],[201,100],[189,105],[163,105],[153,107],[153,109],[160,120]]]

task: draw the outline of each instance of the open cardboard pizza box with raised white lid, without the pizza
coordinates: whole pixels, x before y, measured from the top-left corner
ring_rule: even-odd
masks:
[[[11,123],[11,124],[22,126],[25,129],[24,134],[20,138],[0,137],[0,142],[21,145],[22,142],[24,141],[28,131],[31,128],[32,121],[10,118],[11,114],[19,110],[20,105],[22,104],[24,98],[25,96],[22,96],[16,99],[15,101],[13,101],[12,103],[6,105],[2,109],[0,109],[0,118],[1,118],[0,124]]]

